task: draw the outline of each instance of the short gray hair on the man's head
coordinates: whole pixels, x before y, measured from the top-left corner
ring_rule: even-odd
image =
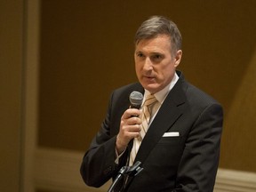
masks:
[[[163,16],[152,16],[145,20],[135,35],[135,44],[139,44],[142,39],[155,38],[159,35],[170,36],[172,53],[181,50],[182,36],[177,25]]]

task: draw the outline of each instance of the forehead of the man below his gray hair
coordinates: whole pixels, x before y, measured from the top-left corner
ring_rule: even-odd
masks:
[[[161,35],[154,38],[141,39],[135,46],[135,52],[171,51],[170,36]]]

